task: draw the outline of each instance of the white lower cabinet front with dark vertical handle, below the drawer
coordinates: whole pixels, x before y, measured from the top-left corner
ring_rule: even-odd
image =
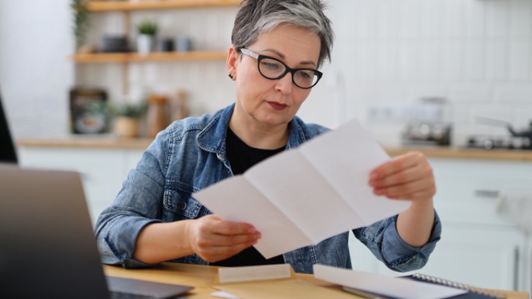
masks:
[[[505,228],[462,226],[443,223],[442,239],[428,264],[418,271],[439,278],[492,289],[524,289],[523,258],[526,237]],[[375,260],[358,240],[351,244],[353,269],[391,276],[407,275],[391,271]],[[362,261],[362,262],[360,262]]]

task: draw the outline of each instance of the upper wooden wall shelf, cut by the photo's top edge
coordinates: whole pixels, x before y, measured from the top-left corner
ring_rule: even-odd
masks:
[[[152,0],[152,1],[89,1],[87,9],[91,12],[161,10],[169,8],[205,8],[220,6],[238,6],[240,0]]]

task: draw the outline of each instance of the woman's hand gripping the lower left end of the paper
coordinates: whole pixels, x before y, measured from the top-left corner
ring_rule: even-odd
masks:
[[[251,224],[224,221],[215,215],[189,221],[187,233],[190,247],[206,262],[225,260],[260,239],[260,233]]]

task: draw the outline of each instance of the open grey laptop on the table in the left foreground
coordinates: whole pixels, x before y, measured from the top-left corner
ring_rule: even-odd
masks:
[[[191,289],[106,280],[80,175],[0,164],[0,298],[175,298]]]

